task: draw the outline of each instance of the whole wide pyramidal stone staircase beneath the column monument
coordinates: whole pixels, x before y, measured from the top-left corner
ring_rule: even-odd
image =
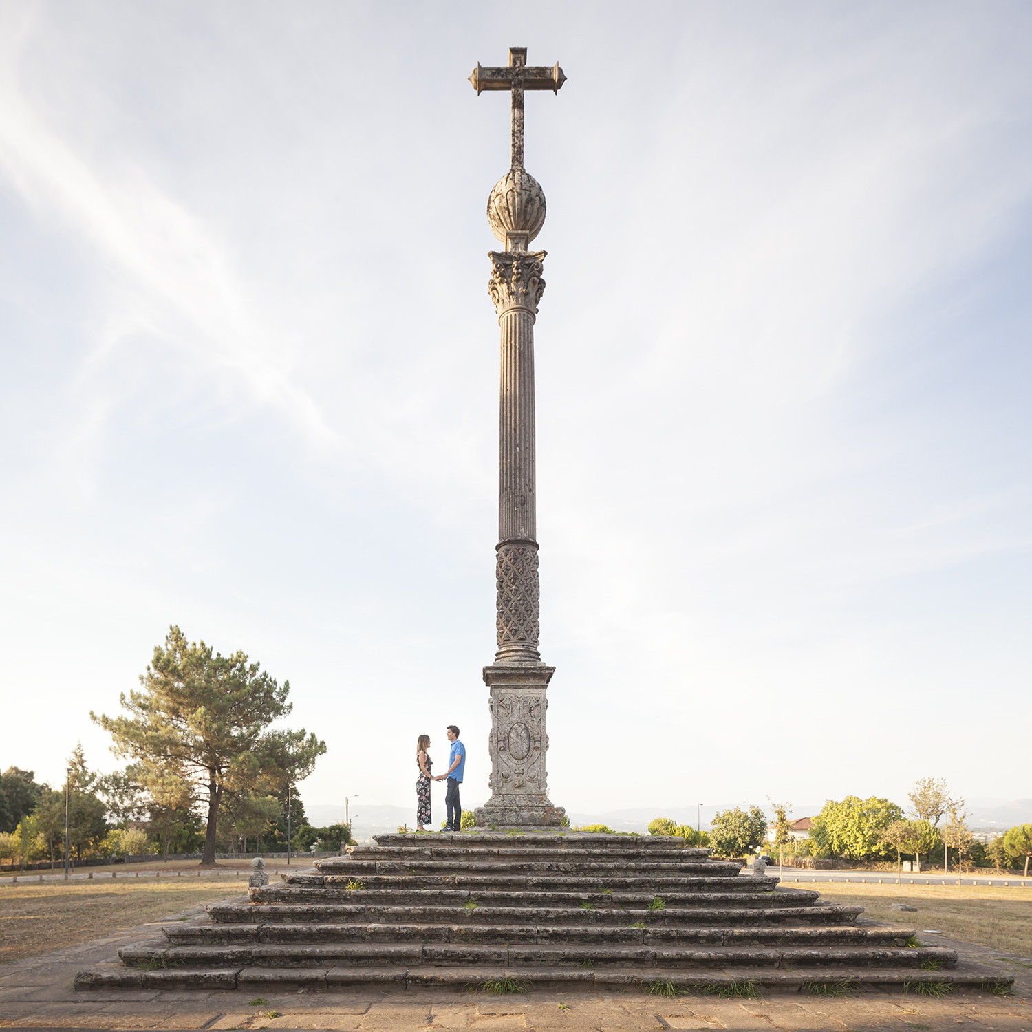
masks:
[[[80,971],[75,988],[720,991],[917,982],[982,986],[912,928],[778,885],[681,839],[466,831],[379,835],[313,873],[214,903]],[[509,982],[512,986],[512,981]],[[490,988],[490,987],[488,987]],[[920,987],[914,987],[920,988]]]

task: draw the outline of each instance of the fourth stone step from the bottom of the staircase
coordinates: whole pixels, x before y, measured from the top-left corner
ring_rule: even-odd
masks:
[[[780,897],[780,893],[778,897]],[[784,903],[777,897],[763,897],[762,902],[749,904],[748,898],[732,897],[735,903],[746,906],[667,906],[663,910],[637,907],[584,907],[562,906],[511,906],[495,907],[478,905],[476,908],[448,906],[438,903],[432,906],[399,905],[377,906],[375,904],[333,904],[321,903],[309,906],[296,903],[267,904],[256,906],[251,903],[221,902],[206,907],[209,920],[215,925],[250,924],[408,924],[414,920],[448,922],[469,925],[521,925],[530,921],[548,924],[590,924],[626,925],[643,921],[647,925],[667,927],[690,925],[774,925],[785,923],[806,923],[808,925],[834,925],[851,921],[863,912],[859,906],[806,905],[794,906],[792,900]],[[540,915],[540,916],[539,916]]]

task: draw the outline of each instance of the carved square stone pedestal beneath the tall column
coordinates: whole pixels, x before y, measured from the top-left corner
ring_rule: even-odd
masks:
[[[495,663],[484,668],[491,689],[491,798],[474,810],[477,826],[560,828],[561,806],[548,798],[545,689],[555,673],[543,663]]]

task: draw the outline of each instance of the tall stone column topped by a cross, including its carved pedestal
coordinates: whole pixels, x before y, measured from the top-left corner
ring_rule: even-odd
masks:
[[[505,246],[492,251],[488,293],[502,327],[498,428],[497,641],[484,668],[490,688],[491,798],[475,811],[478,825],[555,827],[566,811],[548,798],[545,690],[555,672],[538,650],[539,587],[535,494],[534,322],[545,292],[544,251],[528,246],[545,223],[545,193],[523,169],[523,93],[558,92],[558,63],[526,63],[526,49],[509,51],[508,68],[481,68],[470,76],[482,90],[512,97],[512,162],[487,200],[487,221]]]

